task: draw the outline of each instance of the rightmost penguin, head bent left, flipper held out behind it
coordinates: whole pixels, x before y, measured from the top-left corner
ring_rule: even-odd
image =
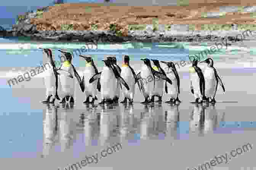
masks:
[[[207,63],[207,66],[205,68],[205,71],[203,73],[205,77],[205,93],[208,102],[216,102],[215,101],[215,95],[218,88],[218,83],[221,84],[221,87],[223,91],[225,92],[225,87],[222,83],[221,78],[219,77],[216,69],[213,67],[213,59],[207,58],[204,61],[201,61],[200,63]]]

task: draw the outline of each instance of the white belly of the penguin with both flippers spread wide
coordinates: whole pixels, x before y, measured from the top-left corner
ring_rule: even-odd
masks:
[[[116,84],[114,72],[108,67],[104,67],[101,72],[101,98],[113,98]]]

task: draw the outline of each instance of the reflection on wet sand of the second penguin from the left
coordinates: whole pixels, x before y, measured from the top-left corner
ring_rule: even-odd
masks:
[[[74,104],[64,103],[60,109],[59,115],[59,140],[61,143],[61,151],[65,151],[70,147],[72,137],[72,118],[70,117],[74,112]]]

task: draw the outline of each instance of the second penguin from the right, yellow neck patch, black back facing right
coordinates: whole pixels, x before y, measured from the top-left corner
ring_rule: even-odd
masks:
[[[189,68],[190,73],[190,90],[195,97],[195,103],[207,101],[205,97],[205,77],[202,70],[197,66],[198,60],[192,61],[192,67]]]

